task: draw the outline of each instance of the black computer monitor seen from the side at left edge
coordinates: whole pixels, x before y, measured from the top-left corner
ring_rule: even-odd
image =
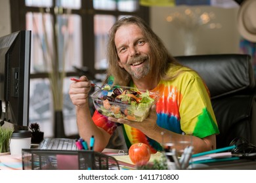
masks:
[[[28,127],[30,53],[31,31],[0,37],[0,125],[9,122],[16,129]]]

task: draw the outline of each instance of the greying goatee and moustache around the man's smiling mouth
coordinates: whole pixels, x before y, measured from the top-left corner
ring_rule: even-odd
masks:
[[[131,69],[132,64],[134,64],[134,63],[142,63],[142,64],[144,64],[144,66],[138,67],[138,68],[133,67],[133,69]],[[150,73],[150,71],[151,71],[149,57],[146,55],[143,55],[143,56],[140,55],[140,56],[136,56],[134,58],[129,59],[129,61],[127,61],[127,64],[126,64],[126,71],[133,78],[136,78],[136,79],[140,79],[140,78],[143,78],[144,76],[148,75],[148,73]]]

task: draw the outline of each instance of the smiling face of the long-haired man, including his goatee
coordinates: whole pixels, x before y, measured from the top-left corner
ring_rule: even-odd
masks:
[[[119,66],[133,78],[140,79],[150,73],[150,46],[137,25],[119,27],[116,31],[115,44]]]

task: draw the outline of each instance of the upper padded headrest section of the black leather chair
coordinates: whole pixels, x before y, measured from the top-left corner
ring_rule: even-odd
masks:
[[[255,75],[249,55],[217,54],[175,58],[202,76],[212,99],[255,90]]]

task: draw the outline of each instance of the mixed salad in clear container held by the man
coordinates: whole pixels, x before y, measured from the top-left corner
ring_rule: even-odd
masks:
[[[98,90],[91,97],[100,114],[141,122],[148,116],[158,95],[148,90],[114,86],[110,90]]]

